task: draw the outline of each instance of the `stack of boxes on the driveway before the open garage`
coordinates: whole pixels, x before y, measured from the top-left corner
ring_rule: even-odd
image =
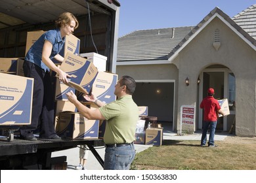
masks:
[[[150,123],[148,119],[156,117],[148,116],[148,107],[139,106],[139,120],[135,132],[135,144],[152,144],[161,146],[163,139],[163,128],[161,124]],[[157,119],[157,118],[156,118]]]

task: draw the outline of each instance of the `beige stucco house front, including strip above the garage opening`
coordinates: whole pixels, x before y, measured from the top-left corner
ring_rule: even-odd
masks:
[[[215,50],[215,29],[220,31],[221,47]],[[182,105],[199,107],[198,75],[209,65],[228,67],[236,77],[236,135],[256,135],[256,52],[219,18],[182,48],[172,64],[117,65],[116,73],[135,80],[175,80],[174,129],[180,130]],[[190,85],[186,86],[186,77]],[[194,128],[188,130],[193,130]]]

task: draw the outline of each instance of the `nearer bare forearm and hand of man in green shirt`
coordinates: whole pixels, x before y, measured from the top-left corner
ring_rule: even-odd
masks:
[[[81,104],[78,100],[75,94],[70,91],[66,93],[68,100],[75,105],[75,107],[78,109],[78,111],[85,116],[85,118],[89,120],[106,120],[104,116],[100,113],[100,110],[98,108],[91,109],[86,107],[85,105]]]

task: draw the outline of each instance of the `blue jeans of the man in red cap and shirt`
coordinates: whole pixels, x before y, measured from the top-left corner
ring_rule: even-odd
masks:
[[[201,146],[206,144],[208,129],[209,129],[209,133],[210,133],[208,146],[214,145],[214,135],[215,135],[216,125],[217,125],[217,121],[215,121],[215,122],[203,121],[203,133],[202,133],[202,138],[201,138]]]

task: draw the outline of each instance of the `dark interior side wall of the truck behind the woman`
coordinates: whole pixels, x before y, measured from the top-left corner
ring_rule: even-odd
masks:
[[[80,39],[80,53],[98,52],[108,57],[110,54],[110,16],[106,14],[91,15],[91,28],[93,39],[89,27],[89,16],[77,18],[79,27],[74,31],[74,35]],[[0,29],[0,57],[1,58],[24,58],[26,50],[26,37],[28,31],[54,29],[54,22],[41,25],[22,24],[15,27]],[[95,46],[93,41],[95,42]]]

